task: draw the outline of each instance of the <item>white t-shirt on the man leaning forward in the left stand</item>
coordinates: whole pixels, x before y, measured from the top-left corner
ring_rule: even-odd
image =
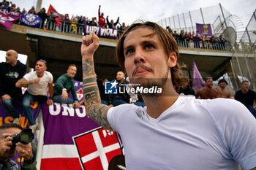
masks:
[[[23,76],[26,80],[34,80],[37,77],[37,72],[29,72],[28,74],[25,74]],[[48,71],[44,72],[44,75],[40,77],[39,83],[34,83],[29,85],[28,91],[31,95],[42,95],[42,96],[47,96],[47,87],[48,84],[53,82],[53,74],[51,74]]]

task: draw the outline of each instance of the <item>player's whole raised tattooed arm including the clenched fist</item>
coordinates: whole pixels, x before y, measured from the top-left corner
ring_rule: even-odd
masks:
[[[99,38],[94,33],[83,36],[81,45],[83,69],[83,96],[85,98],[86,113],[104,128],[112,130],[107,120],[110,107],[101,104],[99,89],[94,71],[94,52],[99,47]]]

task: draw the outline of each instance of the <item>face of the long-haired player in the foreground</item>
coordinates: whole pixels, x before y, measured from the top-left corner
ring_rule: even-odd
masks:
[[[170,67],[176,65],[176,54],[165,53],[157,34],[151,28],[136,28],[124,39],[124,66],[132,83],[150,82],[162,86],[170,78]],[[144,81],[144,82],[143,82]]]

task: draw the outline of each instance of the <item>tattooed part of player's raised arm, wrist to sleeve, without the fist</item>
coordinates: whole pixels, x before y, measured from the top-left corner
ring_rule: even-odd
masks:
[[[101,104],[99,89],[95,78],[94,62],[89,61],[89,59],[83,60],[83,95],[89,117],[99,125],[102,125],[102,127],[112,129],[107,120],[109,107]]]

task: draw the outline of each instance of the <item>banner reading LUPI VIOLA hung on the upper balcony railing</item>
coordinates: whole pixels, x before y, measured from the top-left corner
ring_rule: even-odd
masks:
[[[95,33],[97,36],[108,39],[116,39],[118,36],[118,31],[112,28],[100,28],[97,26],[84,26],[84,34]]]

